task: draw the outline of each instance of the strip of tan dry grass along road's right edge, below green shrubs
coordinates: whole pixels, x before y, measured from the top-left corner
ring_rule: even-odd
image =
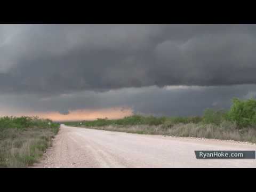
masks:
[[[99,127],[86,127],[98,130],[118,131],[139,134],[161,134],[176,137],[196,137],[209,139],[222,139],[234,141],[248,141],[256,143],[256,130],[250,127],[237,129],[234,123],[223,121],[220,125],[188,123],[174,124],[171,127],[164,125],[134,125],[118,126],[108,125]]]

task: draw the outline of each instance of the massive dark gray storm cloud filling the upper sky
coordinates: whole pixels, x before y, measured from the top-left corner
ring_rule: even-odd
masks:
[[[1,26],[1,93],[256,83],[255,25]]]

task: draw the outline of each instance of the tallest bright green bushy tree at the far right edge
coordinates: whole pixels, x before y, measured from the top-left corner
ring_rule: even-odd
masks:
[[[256,100],[233,99],[233,105],[229,111],[229,118],[236,122],[238,127],[247,127],[255,123],[256,120]]]

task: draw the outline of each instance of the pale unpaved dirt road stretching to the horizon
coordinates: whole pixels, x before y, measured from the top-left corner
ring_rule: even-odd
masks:
[[[255,159],[196,159],[195,150],[256,150],[256,146],[62,124],[53,146],[34,167],[256,167]]]

